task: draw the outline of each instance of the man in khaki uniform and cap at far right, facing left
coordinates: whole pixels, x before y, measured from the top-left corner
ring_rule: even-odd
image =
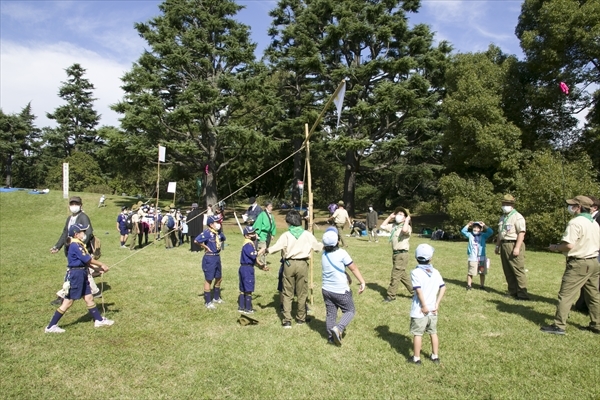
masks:
[[[590,324],[583,329],[600,334],[600,293],[598,292],[598,276],[600,263],[600,226],[590,214],[593,202],[586,196],[577,196],[567,200],[569,213],[574,218],[567,224],[567,229],[559,244],[551,244],[551,251],[562,252],[567,256],[567,267],[558,292],[558,305],[554,314],[554,324],[543,326],[541,331],[564,335],[571,305],[577,299],[579,290],[583,288],[590,311]]]

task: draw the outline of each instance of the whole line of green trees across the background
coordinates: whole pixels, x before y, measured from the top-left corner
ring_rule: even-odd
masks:
[[[214,204],[299,150],[304,125],[345,79],[340,125],[331,109],[311,138],[317,206],[402,204],[446,213],[453,230],[495,220],[510,192],[531,240],[560,233],[564,199],[600,193],[600,3],[524,1],[515,29],[524,60],[495,45],[453,53],[427,25],[411,26],[419,6],[280,0],[257,59],[234,1],[167,0],[135,25],[147,46],[112,106],[120,126],[98,127],[79,64],[59,88],[65,104],[47,113],[55,128],[36,127],[29,104],[0,110],[6,185],[58,188],[66,161],[72,190],[154,196],[160,143],[161,180],[194,201],[199,181],[200,199]],[[300,203],[305,179],[297,152],[237,198]]]

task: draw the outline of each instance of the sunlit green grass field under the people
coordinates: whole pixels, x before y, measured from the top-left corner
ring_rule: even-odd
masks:
[[[368,288],[355,294],[357,315],[338,348],[326,344],[319,256],[309,324],[281,328],[278,258],[270,256],[271,271],[256,271],[260,323],[243,327],[236,304],[242,236],[233,218],[224,226],[226,304],[211,312],[200,296],[198,253],[189,245],[166,251],[162,242],[135,254],[120,249],[116,216],[133,200],[109,198],[108,207],[98,209],[97,195],[81,195],[102,240],[102,261],[113,266],[97,282],[105,293],[98,306],[115,325],[94,329],[78,301],[60,322],[66,333],[44,334],[66,265],[62,252],[49,252],[68,214],[66,201],[59,192],[0,193],[4,399],[600,398],[600,337],[577,329],[588,317],[573,312],[566,336],[539,331],[554,315],[564,268],[560,255],[527,252],[533,301],[522,303],[503,297],[506,284],[495,256],[487,281],[492,290],[466,292],[465,242],[411,239],[412,249],[425,241],[435,247],[433,263],[448,287],[439,311],[442,363],[424,360],[417,367],[405,362],[412,354],[406,291],[393,303],[382,302],[391,270],[386,239],[348,239]],[[280,223],[279,233],[283,229]],[[423,349],[427,357],[427,337]]]

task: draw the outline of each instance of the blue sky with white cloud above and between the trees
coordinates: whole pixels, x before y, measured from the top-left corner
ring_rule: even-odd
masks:
[[[65,69],[81,64],[94,84],[101,125],[118,125],[109,109],[122,98],[120,77],[131,68],[145,42],[133,28],[159,14],[154,0],[0,1],[0,107],[20,111],[31,101],[39,127],[53,126],[46,112],[63,104],[58,97]],[[252,29],[259,54],[268,45],[269,0],[238,1],[238,19]],[[514,35],[521,0],[422,0],[412,23],[424,23],[459,52],[485,50],[490,43],[506,53],[522,53]]]

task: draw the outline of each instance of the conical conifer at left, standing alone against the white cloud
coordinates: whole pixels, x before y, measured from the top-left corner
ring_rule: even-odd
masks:
[[[58,125],[44,132],[44,140],[49,146],[46,152],[61,159],[73,151],[92,154],[99,143],[96,126],[100,115],[93,107],[96,100],[92,92],[94,85],[84,77],[86,70],[77,63],[65,71],[68,78],[62,82],[58,95],[66,104],[46,114]]]

